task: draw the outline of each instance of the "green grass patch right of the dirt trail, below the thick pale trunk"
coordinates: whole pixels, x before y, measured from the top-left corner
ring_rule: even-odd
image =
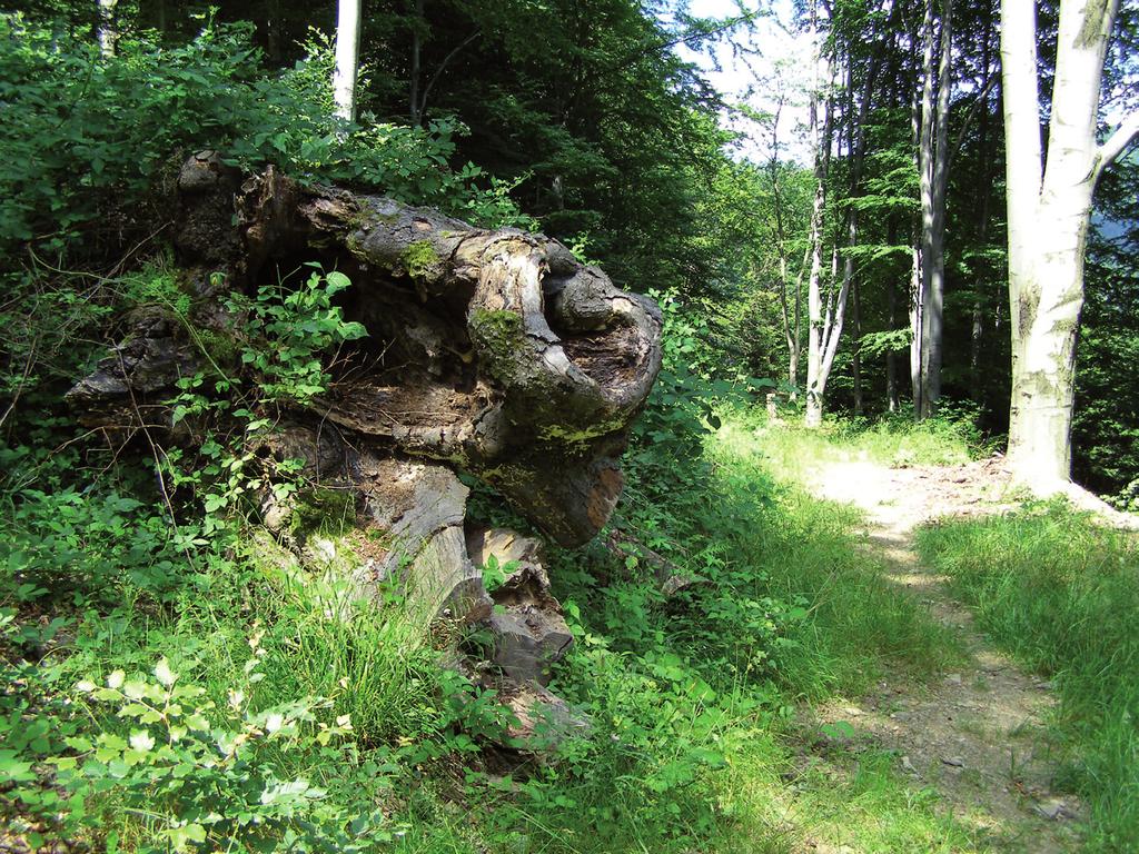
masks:
[[[1139,537],[1063,504],[947,522],[918,536],[981,626],[1054,678],[1066,778],[1091,806],[1089,851],[1139,845]]]

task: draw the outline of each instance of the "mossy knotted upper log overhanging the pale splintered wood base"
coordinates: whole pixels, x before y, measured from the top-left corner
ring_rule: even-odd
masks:
[[[238,211],[246,280],[305,247],[357,282],[349,315],[383,358],[330,389],[329,420],[480,477],[564,545],[597,533],[659,370],[655,305],[556,240],[273,170],[243,186]]]

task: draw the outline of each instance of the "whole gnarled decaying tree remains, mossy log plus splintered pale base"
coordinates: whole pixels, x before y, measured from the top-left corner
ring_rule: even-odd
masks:
[[[428,617],[489,625],[502,679],[530,685],[511,696],[544,697],[572,635],[540,545],[473,527],[457,474],[494,487],[563,545],[592,537],[621,493],[629,426],[661,367],[657,307],[541,235],[477,229],[274,169],[241,182],[210,153],[187,162],[179,188],[175,247],[200,296],[192,325],[235,335],[230,291],[288,288],[316,261],[351,279],[341,307],[368,331],[338,354],[326,394],[274,412],[260,457],[300,458],[317,488],[351,496],[350,523],[370,543],[353,570],[362,592],[395,583]],[[179,321],[144,314],[68,397],[92,426],[124,424],[128,410],[169,425],[164,402],[200,362]],[[267,525],[292,535],[293,509],[263,498]],[[493,599],[482,577],[491,555],[509,567]]]

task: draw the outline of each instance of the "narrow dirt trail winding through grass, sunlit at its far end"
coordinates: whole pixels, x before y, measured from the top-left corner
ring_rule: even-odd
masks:
[[[896,754],[913,788],[935,789],[957,821],[978,831],[982,849],[1072,851],[1083,810],[1075,796],[1051,788],[1051,685],[993,648],[951,594],[948,578],[924,566],[913,544],[916,528],[932,519],[1015,507],[1000,460],[900,469],[830,462],[811,481],[816,494],[865,511],[865,548],[965,651],[953,672],[928,683],[888,675],[858,701],[816,709],[818,723],[833,730],[845,722],[845,731],[855,733],[852,741]]]

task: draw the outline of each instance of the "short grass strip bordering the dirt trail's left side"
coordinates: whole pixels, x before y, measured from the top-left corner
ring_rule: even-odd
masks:
[[[804,486],[805,469],[820,461],[871,452],[891,458],[911,447],[909,433],[849,436],[771,428],[736,413],[710,443],[721,481],[773,478],[775,501],[741,547],[756,556],[772,592],[811,603],[802,656],[786,666],[788,685],[809,698],[836,687],[861,690],[884,666],[931,673],[961,655],[952,633],[886,580],[882,559],[857,548],[860,511],[814,498]],[[931,445],[925,453],[954,458],[965,449],[950,444],[934,454]]]

